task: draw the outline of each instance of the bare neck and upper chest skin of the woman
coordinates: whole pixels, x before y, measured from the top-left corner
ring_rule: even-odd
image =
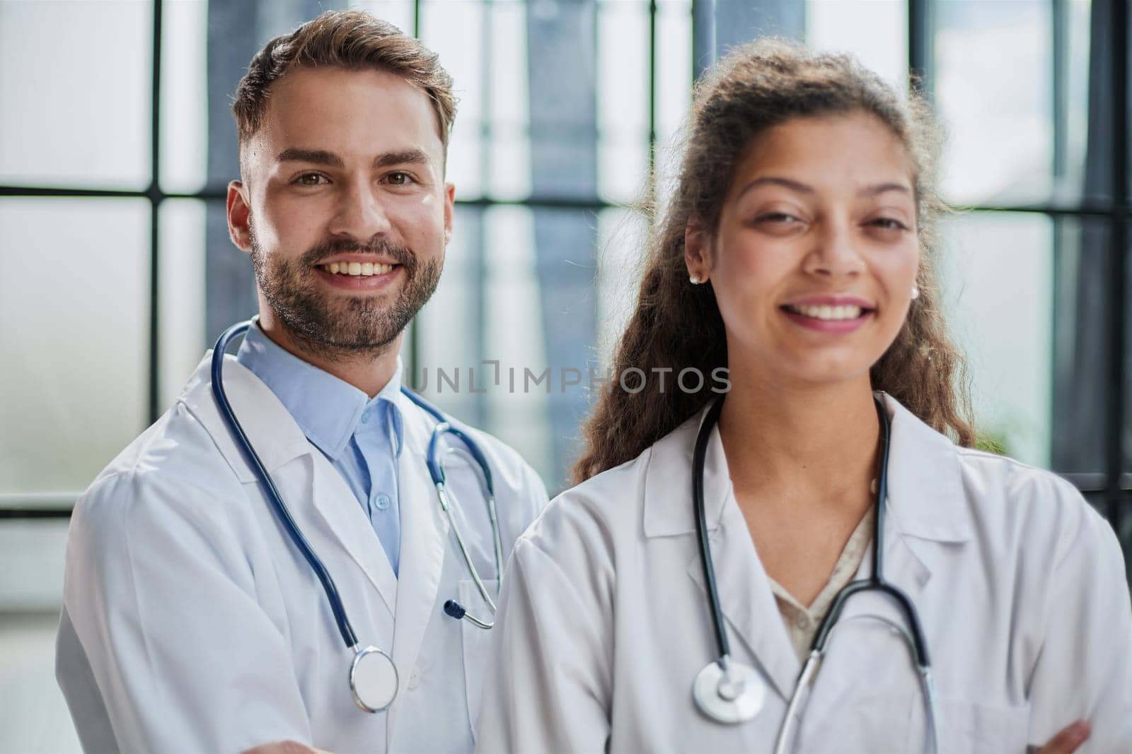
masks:
[[[719,419],[735,500],[766,574],[803,605],[873,504],[880,421],[868,374],[829,385],[730,375]]]

